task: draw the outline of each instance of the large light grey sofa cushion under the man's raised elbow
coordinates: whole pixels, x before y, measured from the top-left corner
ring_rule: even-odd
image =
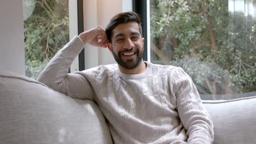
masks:
[[[26,76],[0,71],[1,143],[112,143],[91,100],[56,92]]]

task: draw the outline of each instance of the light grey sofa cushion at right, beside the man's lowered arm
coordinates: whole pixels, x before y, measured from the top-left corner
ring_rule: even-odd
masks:
[[[256,97],[203,101],[203,104],[213,121],[213,143],[256,143]]]

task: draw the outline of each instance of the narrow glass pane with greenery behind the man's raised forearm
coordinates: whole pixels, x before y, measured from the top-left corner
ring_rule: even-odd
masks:
[[[69,41],[68,0],[23,0],[26,76],[40,71]]]

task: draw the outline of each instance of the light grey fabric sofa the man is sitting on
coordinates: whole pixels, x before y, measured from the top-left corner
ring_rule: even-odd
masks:
[[[256,143],[256,97],[203,100],[214,142]],[[92,100],[79,100],[24,75],[0,70],[0,143],[113,143]]]

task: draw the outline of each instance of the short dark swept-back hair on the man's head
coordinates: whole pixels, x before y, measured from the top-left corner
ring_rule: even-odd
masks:
[[[131,12],[119,13],[110,20],[110,22],[106,27],[108,40],[111,42],[112,31],[115,27],[117,27],[121,23],[128,23],[128,22],[137,22],[139,26],[139,33],[141,33],[141,36],[142,36],[141,18],[138,16],[137,13],[131,11]]]

